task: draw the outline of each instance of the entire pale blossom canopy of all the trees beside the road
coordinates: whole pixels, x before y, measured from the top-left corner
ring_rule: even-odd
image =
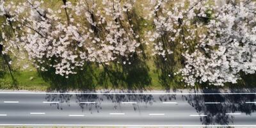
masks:
[[[36,67],[53,67],[56,74],[76,74],[87,62],[131,63],[143,42],[164,60],[179,46],[184,58],[177,72],[194,86],[237,83],[240,72],[256,71],[256,4],[252,0],[149,0],[141,3],[152,28],[145,35],[134,28],[138,1],[62,0],[57,10],[44,1],[0,0],[0,45],[28,52]],[[140,2],[140,1],[139,1]],[[147,6],[145,6],[147,4]],[[65,18],[63,18],[65,17]],[[150,47],[151,48],[151,47]],[[121,59],[120,59],[121,58]]]

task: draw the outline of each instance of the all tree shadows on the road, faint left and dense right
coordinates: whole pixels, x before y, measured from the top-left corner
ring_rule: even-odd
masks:
[[[225,113],[244,113],[248,116],[256,112],[255,104],[246,104],[246,102],[254,102],[256,95],[223,95],[220,90],[201,90],[202,93],[217,93],[217,94],[204,94],[204,95],[181,95],[179,98],[188,102],[188,106],[195,108],[198,115],[200,116],[200,121],[202,125],[230,125],[234,124],[234,119],[236,115],[226,115]],[[189,93],[196,93],[198,90],[192,90]],[[250,92],[250,91],[248,91]],[[72,98],[73,97],[73,98]],[[162,102],[178,102],[177,95],[129,95],[129,94],[47,94],[45,97],[47,101],[58,101],[60,104],[51,104],[51,106],[56,106],[57,109],[63,109],[63,106],[67,108],[70,107],[70,100],[76,100],[77,104],[72,104],[72,106],[79,106],[82,112],[89,111],[90,113],[100,113],[102,109],[122,110],[125,104],[122,102],[136,102],[131,104],[131,108],[135,112],[140,113],[141,109],[147,108],[147,106],[153,106],[154,104],[161,104]],[[159,100],[159,101],[157,101]],[[74,101],[73,101],[74,102]],[[81,102],[95,102],[93,104],[81,103]],[[218,104],[206,104],[207,102],[220,102]],[[65,104],[64,104],[65,103]],[[62,105],[61,105],[62,104]],[[105,106],[103,105],[105,104]],[[107,104],[107,105],[106,105]],[[110,106],[109,106],[110,104]],[[66,107],[67,106],[67,107]],[[185,105],[186,106],[186,105]],[[107,107],[107,108],[104,108]],[[161,108],[159,108],[161,109]],[[170,107],[170,109],[172,109]],[[196,113],[187,113],[188,116]]]

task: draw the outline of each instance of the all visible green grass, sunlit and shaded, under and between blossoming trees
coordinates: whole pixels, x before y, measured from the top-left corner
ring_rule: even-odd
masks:
[[[71,0],[70,0],[71,1]],[[72,0],[74,2],[74,0]],[[19,3],[13,0],[14,3]],[[147,31],[154,28],[152,21],[145,20],[142,17],[147,15],[147,12],[141,11],[141,3],[148,6],[147,0],[141,0],[136,3],[134,8],[134,17],[137,19],[134,22],[136,29],[140,29],[140,35],[145,35]],[[58,9],[62,4],[61,0],[48,0],[45,1],[45,6]],[[136,15],[135,15],[136,14]],[[65,19],[65,14],[61,13]],[[148,26],[145,26],[148,24]],[[143,40],[148,40],[143,38]],[[19,90],[95,90],[95,89],[145,89],[145,90],[169,90],[173,88],[194,88],[185,87],[184,83],[180,81],[180,76],[174,76],[179,68],[182,68],[181,51],[182,47],[179,44],[170,45],[173,54],[168,57],[168,61],[163,61],[161,58],[151,56],[152,44],[145,46],[145,57],[141,55],[134,60],[132,65],[115,65],[103,68],[99,65],[89,64],[84,67],[84,70],[79,72],[79,75],[65,77],[54,74],[54,70],[49,72],[37,72],[35,67],[31,64],[28,58],[19,59],[19,56],[12,56],[13,65],[15,70],[13,73],[17,80],[17,86],[12,83],[12,78],[8,72],[4,76],[0,76],[0,89],[19,89]],[[18,55],[26,56],[26,53],[17,51]],[[24,55],[25,54],[25,55]],[[29,65],[28,69],[23,69],[23,65]],[[1,73],[1,71],[0,71]],[[169,76],[170,75],[170,76]],[[33,79],[31,79],[33,78]],[[249,82],[245,82],[249,81]],[[244,77],[244,80],[239,81],[238,84],[227,83],[225,87],[221,88],[252,88],[256,86],[255,76]],[[219,88],[211,85],[196,85],[195,88]]]

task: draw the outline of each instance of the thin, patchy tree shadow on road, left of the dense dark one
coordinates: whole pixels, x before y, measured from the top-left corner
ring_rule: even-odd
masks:
[[[73,98],[72,98],[73,97]],[[75,99],[74,99],[75,98]],[[112,109],[122,109],[122,102],[136,102],[132,104],[134,111],[140,111],[141,106],[152,106],[156,100],[153,95],[98,95],[98,94],[47,94],[45,100],[48,102],[59,102],[51,103],[50,106],[56,106],[56,109],[67,109],[71,107],[71,100],[76,100],[77,104],[72,106],[79,106],[82,112],[89,111],[90,113],[100,113],[102,110],[102,102],[104,104],[111,104]],[[73,101],[74,102],[74,101]],[[88,103],[91,102],[91,103]],[[95,103],[92,103],[95,102]],[[138,103],[138,104],[137,104]],[[107,105],[108,107],[108,105]]]

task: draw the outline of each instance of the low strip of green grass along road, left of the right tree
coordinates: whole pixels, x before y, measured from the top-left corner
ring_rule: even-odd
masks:
[[[131,66],[132,67],[132,66]],[[125,69],[124,69],[125,70]],[[135,71],[134,71],[135,70]],[[97,90],[97,89],[145,89],[145,90],[163,90],[165,86],[162,86],[159,83],[159,75],[157,72],[150,70],[148,74],[141,74],[136,70],[129,70],[127,73],[120,74],[120,76],[105,76],[102,77],[102,74],[106,74],[103,68],[93,69],[93,73],[90,74],[89,71],[83,71],[84,74],[80,76],[70,77],[66,79],[65,77],[60,77],[52,74],[41,74],[40,76],[36,70],[32,71],[15,71],[13,76],[17,81],[17,86],[14,86],[12,83],[12,77],[9,73],[6,73],[4,77],[0,78],[0,88],[3,90]],[[119,74],[122,71],[111,70],[111,74]],[[48,72],[49,73],[49,72]],[[88,75],[90,74],[90,75]],[[131,74],[131,75],[129,75]],[[132,75],[134,74],[134,75]],[[141,74],[141,75],[140,75]],[[146,79],[150,81],[145,82]],[[121,79],[120,77],[124,77]],[[138,77],[138,79],[136,79]],[[172,87],[171,87],[172,88]]]

